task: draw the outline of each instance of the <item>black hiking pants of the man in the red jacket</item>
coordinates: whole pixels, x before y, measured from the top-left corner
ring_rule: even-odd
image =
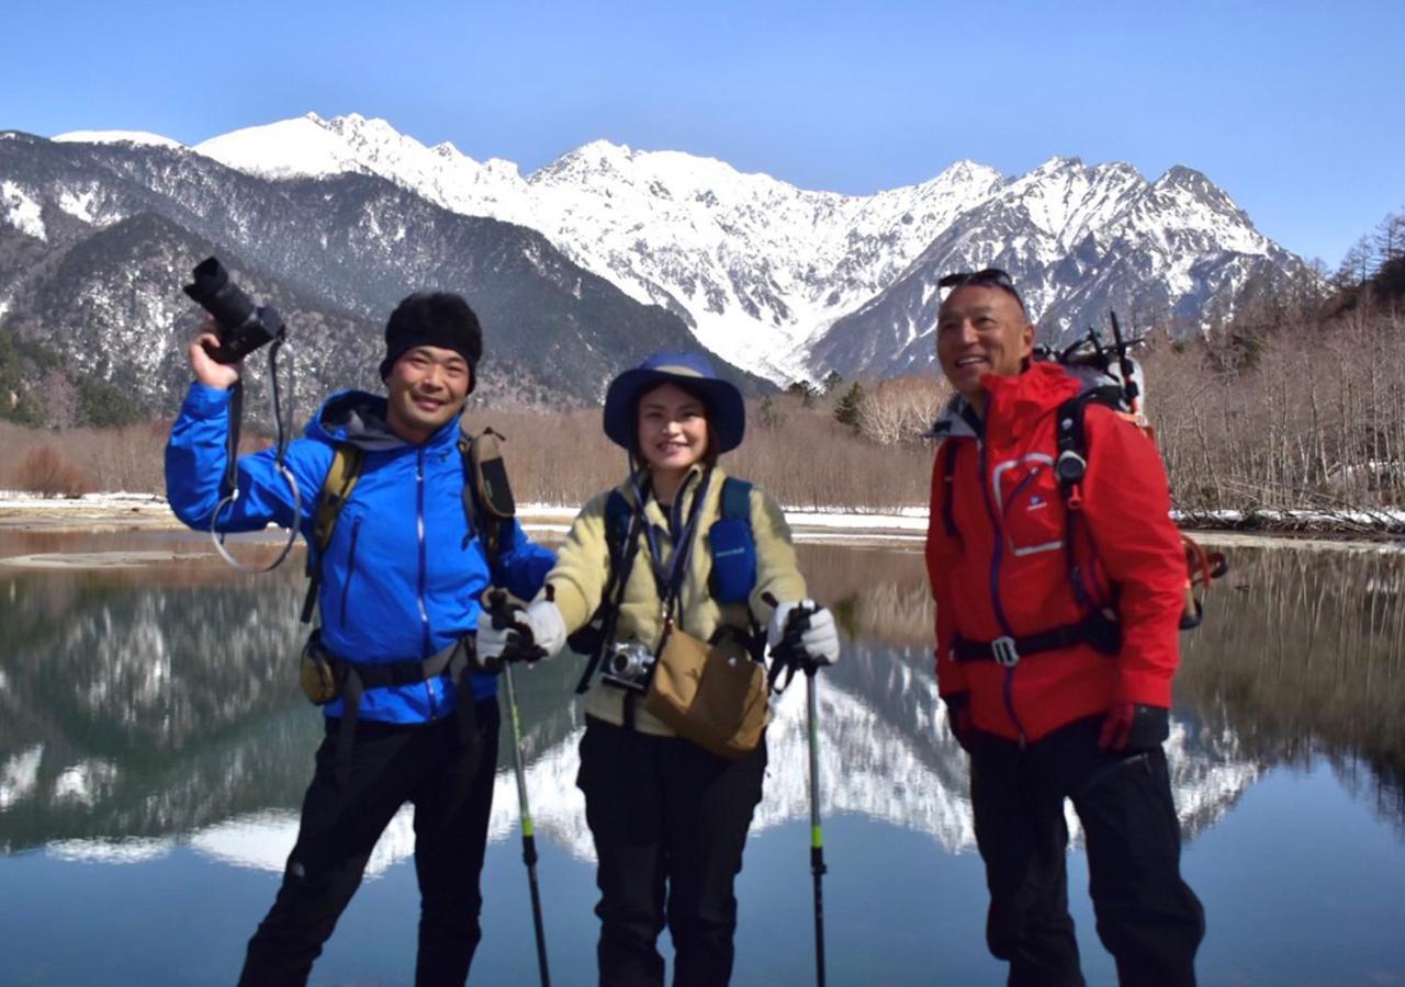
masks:
[[[1121,984],[1196,983],[1200,900],[1180,877],[1180,826],[1162,748],[1097,747],[1102,717],[1026,750],[979,733],[971,751],[975,835],[991,889],[986,942],[1010,963],[1010,987],[1083,984],[1068,914],[1064,800],[1087,844],[1097,936]]]

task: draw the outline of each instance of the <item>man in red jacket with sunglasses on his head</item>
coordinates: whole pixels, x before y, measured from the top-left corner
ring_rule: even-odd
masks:
[[[1097,934],[1123,984],[1193,984],[1204,935],[1180,879],[1166,755],[1186,562],[1152,442],[1083,404],[1082,477],[1055,476],[1065,402],[1085,385],[1033,361],[1009,275],[951,275],[937,357],[927,571],[937,680],[971,754],[991,952],[1009,983],[1082,984],[1068,914],[1064,800],[1087,844]],[[1065,444],[1066,446],[1068,444]]]

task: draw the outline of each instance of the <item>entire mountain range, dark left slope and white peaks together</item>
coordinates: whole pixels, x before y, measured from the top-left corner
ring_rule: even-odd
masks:
[[[524,175],[381,119],[309,114],[195,147],[131,131],[0,133],[8,329],[62,350],[72,324],[101,329],[100,312],[122,312],[124,338],[169,336],[178,295],[129,303],[146,271],[114,295],[98,267],[65,268],[84,237],[122,240],[117,227],[142,213],[169,223],[146,250],[150,272],[208,241],[325,319],[364,320],[348,330],[362,348],[407,286],[465,291],[513,330],[495,351],[509,358],[504,380],[587,403],[620,368],[676,345],[776,383],[930,372],[936,282],[955,270],[1009,270],[1051,341],[1103,324],[1109,309],[1134,330],[1189,333],[1248,285],[1312,277],[1184,167],[1146,181],[1078,159],[1017,177],[957,161],[917,185],[840,195],[606,140]],[[59,309],[41,305],[45,284]],[[128,386],[119,368],[139,354],[108,354],[105,338],[67,355]],[[126,376],[149,380],[149,368]],[[148,390],[148,404],[164,400]]]

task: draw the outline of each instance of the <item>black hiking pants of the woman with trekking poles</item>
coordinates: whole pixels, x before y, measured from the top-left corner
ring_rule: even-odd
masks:
[[[732,892],[764,775],[764,738],[725,761],[679,737],[586,719],[577,785],[599,858],[601,987],[662,987],[665,922],[674,987],[731,980]]]

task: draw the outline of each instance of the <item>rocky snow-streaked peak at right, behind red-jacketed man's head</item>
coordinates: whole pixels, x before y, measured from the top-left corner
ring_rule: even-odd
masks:
[[[1134,330],[1198,327],[1250,282],[1314,277],[1198,171],[1177,166],[1146,183],[1128,164],[1052,159],[965,212],[835,322],[811,365],[878,375],[930,368],[937,282],[986,267],[1010,271],[1051,343],[1104,330],[1109,310]]]

